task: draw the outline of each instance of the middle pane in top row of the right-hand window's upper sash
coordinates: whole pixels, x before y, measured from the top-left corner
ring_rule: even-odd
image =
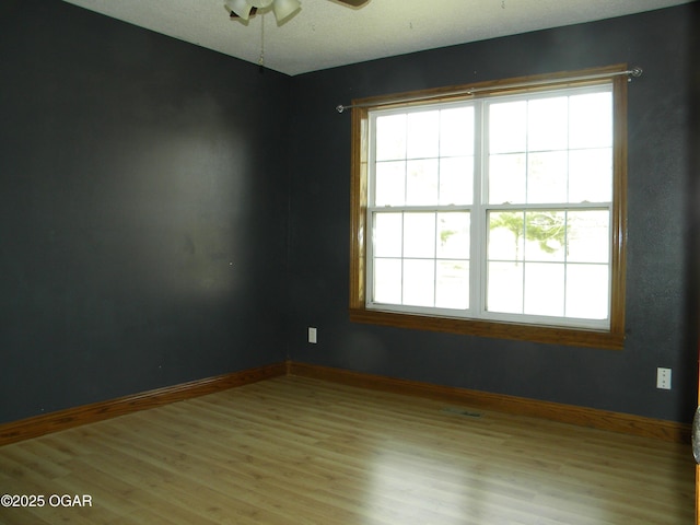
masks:
[[[563,150],[568,142],[569,98],[539,98],[527,107],[527,149]]]

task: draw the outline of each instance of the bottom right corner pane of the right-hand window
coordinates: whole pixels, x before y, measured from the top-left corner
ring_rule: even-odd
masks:
[[[608,267],[567,267],[567,317],[606,319],[608,316]]]

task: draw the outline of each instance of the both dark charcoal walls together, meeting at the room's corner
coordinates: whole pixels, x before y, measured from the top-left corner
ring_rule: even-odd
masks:
[[[287,357],[689,420],[697,5],[289,78],[58,0],[2,2],[0,423]],[[337,104],[616,62],[645,71],[629,96],[623,351],[348,322]]]

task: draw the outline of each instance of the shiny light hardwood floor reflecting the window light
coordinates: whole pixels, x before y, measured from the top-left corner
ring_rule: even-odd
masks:
[[[0,523],[676,525],[693,483],[689,445],[288,376],[0,447],[45,497]]]

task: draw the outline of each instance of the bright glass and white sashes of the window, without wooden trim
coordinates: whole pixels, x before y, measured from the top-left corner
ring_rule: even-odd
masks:
[[[618,212],[611,82],[374,112],[361,137],[373,165],[353,174],[369,191],[368,208],[357,200],[371,210],[371,259],[358,266],[374,279],[369,302],[605,327]]]

